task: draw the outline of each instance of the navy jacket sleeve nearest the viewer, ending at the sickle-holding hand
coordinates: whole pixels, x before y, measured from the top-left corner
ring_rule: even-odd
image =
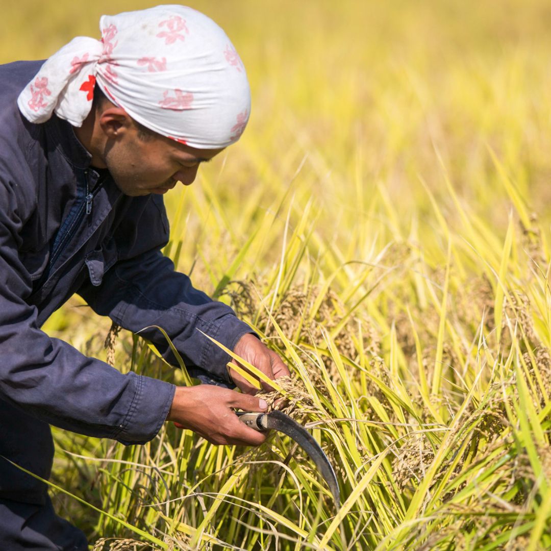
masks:
[[[18,252],[20,231],[36,202],[32,186],[21,185],[28,176],[13,177],[0,159],[0,399],[63,429],[146,442],[166,419],[174,386],[122,375],[50,338],[25,301],[32,281]]]

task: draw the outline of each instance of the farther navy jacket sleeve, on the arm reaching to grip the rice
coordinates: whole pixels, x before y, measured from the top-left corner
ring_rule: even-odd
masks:
[[[164,358],[177,365],[163,334],[147,327],[163,328],[192,376],[234,386],[226,368],[230,356],[201,332],[233,350],[252,329],[229,306],[193,288],[190,278],[176,272],[172,261],[160,252],[169,236],[160,196],[149,196],[138,220],[136,209],[132,212],[132,220],[117,230],[119,260],[100,285],[88,282],[80,295],[94,311],[155,343]]]

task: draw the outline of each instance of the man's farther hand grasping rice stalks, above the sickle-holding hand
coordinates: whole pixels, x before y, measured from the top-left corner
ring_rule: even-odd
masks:
[[[278,377],[290,375],[289,369],[283,363],[282,359],[252,333],[244,334],[244,336],[237,341],[234,352],[240,356],[240,358],[254,365],[255,368],[262,371],[272,380],[278,379]],[[240,367],[242,366],[240,365]],[[241,392],[250,395],[254,395],[258,392],[258,388],[251,385],[250,382],[244,379],[233,369],[230,369],[230,376]],[[267,382],[260,382],[264,390],[273,390]]]

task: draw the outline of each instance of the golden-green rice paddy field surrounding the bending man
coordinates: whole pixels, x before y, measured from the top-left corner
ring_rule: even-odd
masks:
[[[152,5],[4,0],[0,61]],[[95,551],[551,548],[551,5],[190,5],[233,40],[253,109],[165,196],[164,252],[284,357],[341,508],[288,437],[166,424],[130,447],[56,429],[58,512]],[[192,383],[110,328],[78,298],[45,326]]]

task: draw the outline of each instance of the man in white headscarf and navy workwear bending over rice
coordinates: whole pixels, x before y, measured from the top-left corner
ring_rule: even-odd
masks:
[[[234,143],[250,112],[245,69],[212,20],[159,6],[100,20],[46,63],[0,67],[0,549],[87,549],[57,517],[50,424],[124,444],[165,420],[214,444],[258,445],[235,408],[266,409],[226,372],[212,336],[272,379],[288,375],[249,326],[160,253],[162,195]],[[157,325],[190,372],[178,387],[87,358],[40,326],[73,293],[122,327]],[[155,329],[142,331],[174,363]],[[231,376],[242,393],[229,390]],[[9,460],[9,461],[7,461]]]

